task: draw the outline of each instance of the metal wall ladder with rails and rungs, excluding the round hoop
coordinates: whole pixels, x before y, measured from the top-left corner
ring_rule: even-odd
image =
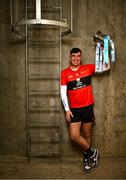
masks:
[[[42,3],[43,17],[60,20],[59,1],[53,1],[53,6]],[[33,156],[60,157],[60,27],[27,26],[26,46],[28,160]]]

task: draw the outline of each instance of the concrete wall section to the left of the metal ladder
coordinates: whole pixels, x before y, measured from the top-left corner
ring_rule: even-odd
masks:
[[[25,155],[25,41],[11,32],[9,2],[0,7],[0,154]]]

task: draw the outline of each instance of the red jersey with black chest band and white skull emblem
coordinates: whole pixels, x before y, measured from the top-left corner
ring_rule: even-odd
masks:
[[[67,68],[61,72],[61,85],[67,86],[71,108],[85,107],[94,102],[91,86],[94,72],[94,64],[81,65],[77,71]]]

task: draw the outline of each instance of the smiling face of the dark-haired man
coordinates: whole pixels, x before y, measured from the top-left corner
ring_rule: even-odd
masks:
[[[81,52],[71,53],[70,55],[71,66],[78,67],[81,63],[81,58],[82,58]]]

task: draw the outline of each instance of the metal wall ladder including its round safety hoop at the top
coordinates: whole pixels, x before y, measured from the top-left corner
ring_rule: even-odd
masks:
[[[25,18],[16,23],[13,5],[18,2],[10,0],[12,31],[25,38],[28,162],[31,157],[62,155],[61,38],[72,32],[72,0],[69,2],[70,26],[62,17],[63,0],[25,0]]]

